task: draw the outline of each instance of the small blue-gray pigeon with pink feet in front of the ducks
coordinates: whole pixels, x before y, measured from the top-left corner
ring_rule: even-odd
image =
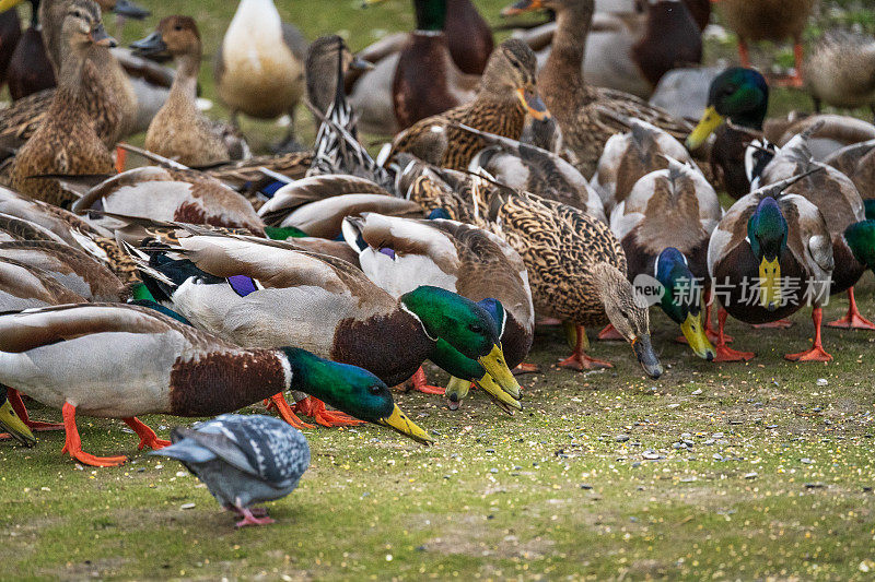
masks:
[[[285,497],[310,466],[304,435],[269,416],[223,414],[177,427],[171,440],[152,454],[182,461],[222,507],[243,518],[237,527],[273,523],[265,508],[250,506]]]

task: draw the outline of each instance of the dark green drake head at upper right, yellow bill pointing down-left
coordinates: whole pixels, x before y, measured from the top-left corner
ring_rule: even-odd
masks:
[[[687,149],[696,150],[724,120],[738,126],[761,130],[769,108],[769,85],[754,69],[733,67],[711,82],[708,107],[699,124],[687,138]]]

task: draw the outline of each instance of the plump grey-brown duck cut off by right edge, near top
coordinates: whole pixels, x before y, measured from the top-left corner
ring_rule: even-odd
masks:
[[[805,64],[805,85],[815,111],[824,103],[875,116],[875,39],[848,32],[824,35]]]

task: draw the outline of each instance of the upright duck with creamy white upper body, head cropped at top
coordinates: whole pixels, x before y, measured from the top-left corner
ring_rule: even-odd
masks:
[[[241,0],[213,66],[215,92],[235,127],[241,112],[256,119],[288,114],[287,142],[294,142],[306,51],[304,35],[282,21],[273,0]]]

